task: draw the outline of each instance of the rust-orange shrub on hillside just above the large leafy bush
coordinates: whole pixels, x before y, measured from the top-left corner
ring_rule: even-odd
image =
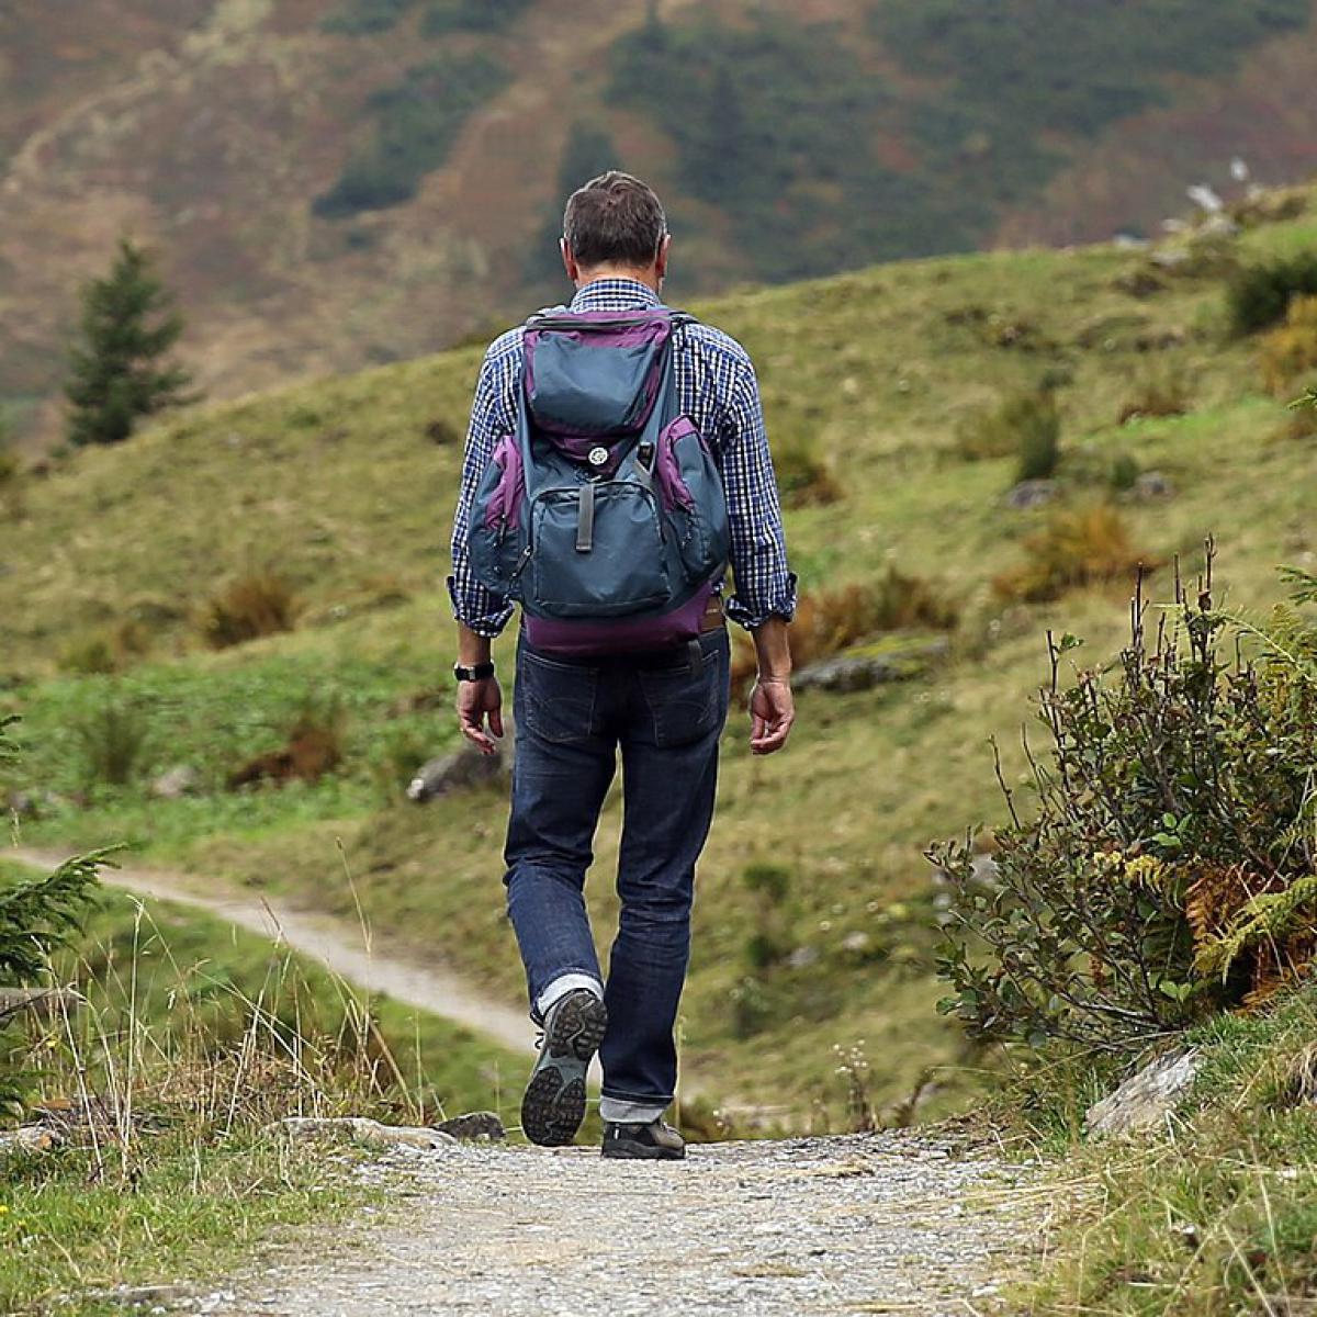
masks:
[[[1040,603],[1069,589],[1130,579],[1154,560],[1133,548],[1121,514],[1108,503],[1055,512],[1025,540],[1027,561],[993,582],[1004,599]]]

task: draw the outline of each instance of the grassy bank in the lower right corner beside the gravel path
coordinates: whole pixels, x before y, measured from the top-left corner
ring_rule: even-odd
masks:
[[[1308,1312],[1317,1291],[1317,989],[1189,1039],[1202,1067],[1160,1134],[1068,1152],[1079,1210],[1013,1310],[1094,1317]],[[1036,1090],[1035,1090],[1036,1096]],[[1068,1096],[1043,1098],[1063,1122]],[[1050,1105],[1048,1105],[1050,1104]]]

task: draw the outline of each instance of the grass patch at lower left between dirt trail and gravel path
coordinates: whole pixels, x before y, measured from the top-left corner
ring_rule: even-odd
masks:
[[[0,882],[18,871],[0,861]],[[497,1109],[522,1060],[367,1000],[263,938],[107,889],[54,979],[84,1005],[26,1027],[33,1101],[104,1112],[0,1181],[0,1309],[121,1310],[94,1292],[217,1276],[371,1197],[287,1114],[421,1123]],[[511,1113],[504,1112],[511,1119]],[[88,1296],[92,1297],[88,1297]],[[63,1297],[62,1297],[63,1296]]]

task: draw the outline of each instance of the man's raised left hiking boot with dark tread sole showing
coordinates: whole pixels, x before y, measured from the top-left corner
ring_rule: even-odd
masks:
[[[540,1056],[522,1098],[522,1130],[532,1143],[564,1147],[576,1138],[585,1119],[585,1073],[607,1025],[608,1011],[587,988],[549,1008]]]

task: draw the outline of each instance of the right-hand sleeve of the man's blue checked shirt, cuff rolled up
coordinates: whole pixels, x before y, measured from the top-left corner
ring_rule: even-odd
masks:
[[[735,363],[720,457],[735,591],[727,601],[727,615],[751,631],[772,616],[789,622],[795,615],[795,576],[786,562],[764,406],[748,358]]]

